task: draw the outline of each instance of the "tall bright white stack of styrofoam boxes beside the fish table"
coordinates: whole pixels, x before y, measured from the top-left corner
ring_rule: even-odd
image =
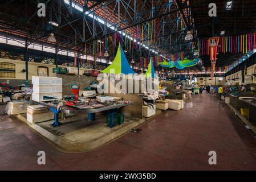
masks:
[[[62,78],[32,76],[32,100],[37,102],[62,99]]]

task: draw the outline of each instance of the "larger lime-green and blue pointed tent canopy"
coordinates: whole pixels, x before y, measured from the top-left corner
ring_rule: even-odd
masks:
[[[113,60],[112,64],[105,68],[101,73],[115,73],[120,74],[123,73],[124,75],[133,74],[133,70],[130,67],[127,58],[124,55],[124,51],[122,47],[118,46],[116,57]]]

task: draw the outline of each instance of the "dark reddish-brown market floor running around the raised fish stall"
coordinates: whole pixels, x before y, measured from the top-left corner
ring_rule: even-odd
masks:
[[[0,110],[3,106],[0,106]],[[0,169],[255,170],[256,138],[217,98],[202,94],[98,150],[64,154],[14,117],[0,116]],[[46,165],[37,152],[46,152]],[[209,151],[217,165],[209,165]]]

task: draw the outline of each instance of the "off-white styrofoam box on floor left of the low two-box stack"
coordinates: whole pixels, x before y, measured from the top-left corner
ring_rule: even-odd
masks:
[[[27,101],[11,101],[6,105],[8,115],[22,114],[27,112]]]

